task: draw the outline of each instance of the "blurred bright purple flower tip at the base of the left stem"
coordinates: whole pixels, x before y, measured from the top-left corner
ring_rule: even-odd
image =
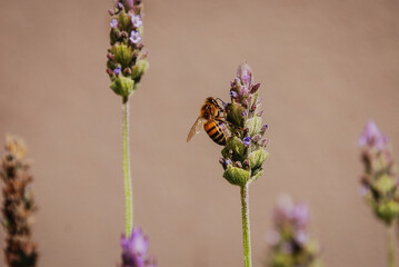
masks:
[[[156,267],[153,258],[146,258],[148,251],[148,237],[140,228],[134,228],[130,238],[122,235],[120,245],[122,247],[121,267]]]

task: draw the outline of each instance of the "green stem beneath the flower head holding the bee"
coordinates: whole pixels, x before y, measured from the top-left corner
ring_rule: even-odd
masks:
[[[251,231],[249,222],[249,184],[241,186],[241,215],[242,215],[242,241],[245,267],[252,267],[251,259]]]

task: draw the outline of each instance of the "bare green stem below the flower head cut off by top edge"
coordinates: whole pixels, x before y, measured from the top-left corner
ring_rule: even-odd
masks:
[[[124,228],[127,238],[133,229],[133,188],[129,157],[129,100],[123,99],[123,180],[124,180]]]

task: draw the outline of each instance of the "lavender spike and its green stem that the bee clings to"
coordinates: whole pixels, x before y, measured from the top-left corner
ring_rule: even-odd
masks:
[[[225,169],[226,180],[240,187],[243,261],[246,267],[250,267],[249,185],[262,175],[262,164],[269,156],[265,149],[269,140],[262,138],[268,126],[262,125],[263,110],[260,110],[261,98],[258,97],[260,83],[255,83],[247,63],[239,66],[230,86],[231,102],[225,105],[223,113],[231,135],[227,138],[219,161]]]

